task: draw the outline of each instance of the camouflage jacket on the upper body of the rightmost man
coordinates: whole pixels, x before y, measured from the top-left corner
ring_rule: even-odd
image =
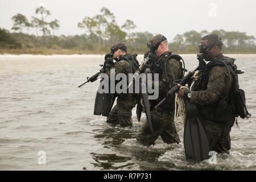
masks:
[[[217,59],[233,60],[222,54]],[[203,120],[218,123],[233,121],[235,106],[232,102],[232,74],[224,65],[214,65],[214,60],[206,65],[205,70],[198,86],[191,91],[191,102],[197,105]]]

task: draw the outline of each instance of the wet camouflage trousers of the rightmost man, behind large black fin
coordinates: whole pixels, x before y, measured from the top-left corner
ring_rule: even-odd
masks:
[[[203,120],[202,124],[207,132],[210,150],[218,153],[228,153],[231,147],[230,131],[235,119],[227,123],[216,123]]]

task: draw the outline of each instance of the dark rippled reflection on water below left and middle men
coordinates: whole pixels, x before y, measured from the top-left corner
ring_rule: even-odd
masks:
[[[134,121],[136,122],[136,121]],[[98,134],[94,135],[97,141],[100,141],[104,148],[108,148],[113,154],[92,152],[92,158],[95,160],[92,164],[98,169],[164,169],[159,168],[157,164],[148,165],[147,163],[156,163],[160,155],[164,154],[161,148],[150,148],[141,146],[137,143],[135,136],[138,124],[132,128],[122,128],[119,126],[108,126],[106,129],[94,130]],[[160,140],[159,140],[160,142]],[[169,145],[166,145],[170,147]]]

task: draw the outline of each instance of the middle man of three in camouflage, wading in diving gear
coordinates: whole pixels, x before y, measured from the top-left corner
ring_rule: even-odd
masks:
[[[174,80],[183,78],[184,63],[181,63],[183,59],[168,50],[168,41],[161,34],[155,35],[147,46],[150,50],[144,57],[150,58],[150,64],[142,72],[159,75],[159,80],[151,81],[152,85],[159,86],[159,97],[156,100],[150,100],[150,117],[153,132],[150,130],[149,122],[145,121],[139,128],[136,139],[138,143],[145,146],[154,144],[159,136],[164,143],[179,143],[180,139],[174,123],[174,98],[164,102],[158,109],[155,109],[155,105],[174,86]],[[138,108],[140,108],[139,103],[137,113],[141,112],[138,111]]]

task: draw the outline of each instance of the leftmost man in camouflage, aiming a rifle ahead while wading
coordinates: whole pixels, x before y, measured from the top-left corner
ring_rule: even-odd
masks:
[[[110,72],[114,70],[114,78],[122,73],[125,74],[128,79],[129,73],[134,73],[139,67],[137,60],[137,55],[129,55],[127,53],[127,46],[125,43],[117,43],[111,47],[110,53],[105,56],[104,65],[102,65],[100,72],[93,76],[92,81],[97,80],[101,73],[105,73],[108,78],[111,78]],[[91,79],[88,78],[88,82]],[[90,82],[92,82],[90,81]],[[94,102],[94,114],[103,115],[108,117],[106,122],[122,127],[132,126],[131,121],[131,110],[137,104],[134,94],[130,93],[116,93],[111,86],[108,88],[107,92],[101,93],[99,89],[102,89],[103,85],[110,85],[110,79],[104,79],[101,77],[102,84],[99,85],[96,99]],[[105,83],[104,83],[105,82]],[[106,83],[107,82],[107,83]],[[118,81],[115,81],[116,85]],[[128,83],[127,83],[128,84]],[[114,85],[114,89],[115,89]],[[81,86],[81,85],[80,85]],[[113,107],[115,98],[117,98],[117,104]],[[113,108],[112,108],[113,107]]]

